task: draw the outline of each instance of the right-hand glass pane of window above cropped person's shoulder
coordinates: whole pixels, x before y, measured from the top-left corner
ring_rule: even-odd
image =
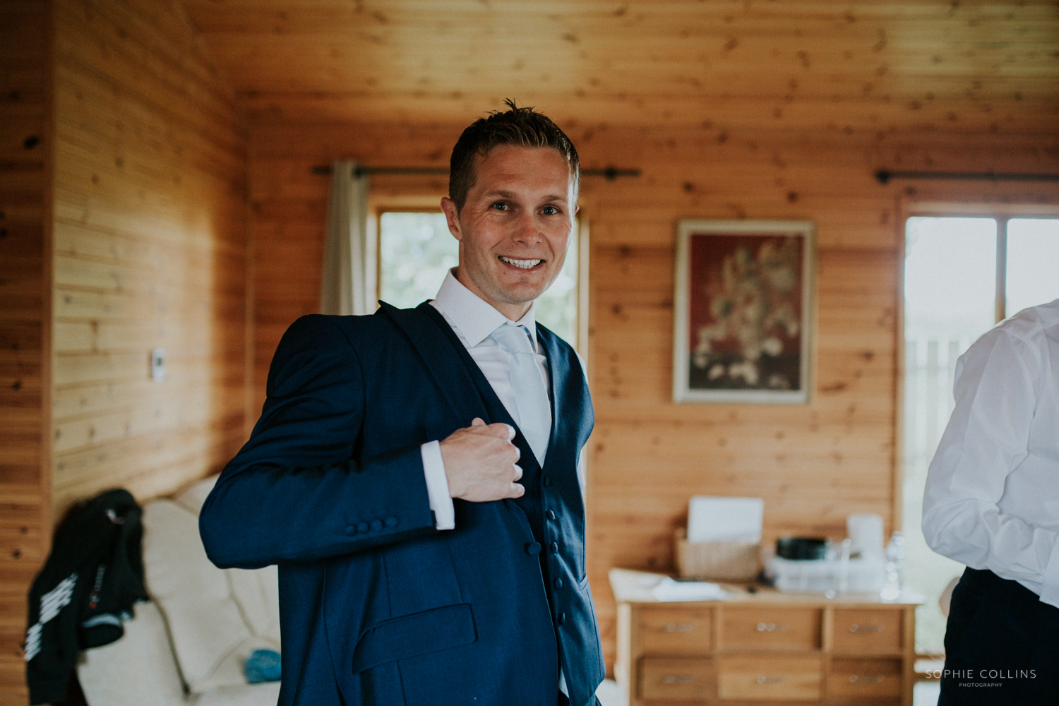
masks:
[[[1059,218],[1007,221],[1007,315],[1059,298]]]

